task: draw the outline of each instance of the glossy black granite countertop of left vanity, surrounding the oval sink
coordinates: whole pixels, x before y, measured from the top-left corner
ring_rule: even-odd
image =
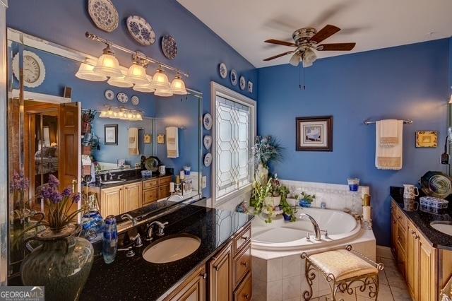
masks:
[[[141,257],[148,246],[145,225],[119,235],[119,248],[130,244],[129,236],[142,233],[143,247],[134,247],[133,257],[118,252],[112,264],[105,264],[96,256],[80,300],[161,300],[171,293],[191,271],[205,264],[215,252],[230,241],[253,216],[213,208],[187,205],[167,216],[158,218],[165,227],[165,236],[189,233],[201,239],[201,246],[193,254],[167,264],[151,264]],[[154,238],[156,240],[156,238]]]

